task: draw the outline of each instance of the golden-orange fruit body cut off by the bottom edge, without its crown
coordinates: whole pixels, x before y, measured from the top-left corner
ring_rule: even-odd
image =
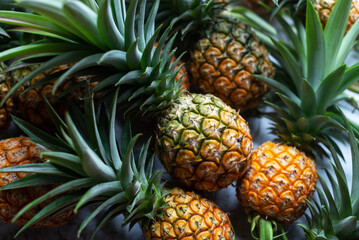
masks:
[[[166,195],[165,201],[163,217],[144,229],[146,240],[233,239],[228,216],[212,201],[178,188]]]

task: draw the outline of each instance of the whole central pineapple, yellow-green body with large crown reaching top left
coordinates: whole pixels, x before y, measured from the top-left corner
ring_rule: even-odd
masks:
[[[39,7],[39,1],[44,8]],[[123,4],[116,5],[118,10],[114,9],[112,0],[103,1],[100,6],[75,0],[64,3],[20,0],[21,6],[38,12],[41,21],[46,22],[47,26],[51,25],[51,34],[45,33],[55,34],[58,38],[47,38],[26,46],[27,53],[35,56],[43,48],[48,54],[54,54],[49,53],[49,46],[56,47],[56,54],[23,78],[21,83],[41,71],[52,69],[59,62],[76,61],[55,81],[54,93],[66,77],[80,70],[86,72],[91,69],[93,72],[93,68],[99,68],[96,76],[104,78],[92,92],[102,91],[106,97],[119,87],[118,107],[124,114],[137,114],[145,119],[155,117],[158,120],[157,153],[174,178],[185,186],[205,192],[230,185],[240,176],[252,152],[252,138],[247,123],[219,98],[191,95],[181,86],[181,81],[176,80],[181,56],[173,61],[175,50],[171,51],[171,47],[175,36],[168,40],[170,28],[167,28],[157,39],[161,28],[155,29],[154,26],[159,1],[154,1],[152,7],[148,7],[147,21],[146,1],[131,1],[128,7],[124,1],[121,2]],[[52,11],[44,9],[56,9],[59,14],[53,16]],[[87,14],[84,15],[85,12]],[[125,12],[126,15],[118,15]],[[20,17],[6,11],[0,11],[0,16],[9,22]],[[73,21],[74,16],[81,16],[82,22]],[[109,19],[106,16],[110,16]],[[29,22],[36,17],[33,14],[26,17],[21,15]],[[110,23],[116,22],[115,19],[120,20],[113,26]],[[109,24],[112,28],[105,31],[103,25]],[[39,28],[38,25],[31,26]],[[38,33],[44,34],[43,27],[41,29]],[[37,48],[33,48],[34,45]],[[24,57],[23,51],[15,48],[0,54],[0,60],[10,57],[21,59]],[[15,88],[11,91],[15,91]],[[181,138],[178,134],[181,134]],[[189,146],[194,141],[197,141],[196,148],[191,149]],[[185,173],[182,169],[189,173],[175,175]]]

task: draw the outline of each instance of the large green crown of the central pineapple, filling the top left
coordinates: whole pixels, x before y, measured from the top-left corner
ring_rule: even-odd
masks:
[[[170,28],[155,28],[159,0],[150,8],[146,0],[17,0],[19,6],[35,13],[0,11],[0,22],[17,25],[15,31],[45,36],[45,39],[0,53],[0,61],[14,59],[12,68],[24,62],[43,63],[19,81],[2,100],[37,74],[74,63],[55,81],[53,93],[70,75],[95,71],[101,76],[93,92],[113,93],[121,88],[121,106],[154,115],[171,104],[182,88],[171,63],[175,38],[168,39]],[[157,44],[156,44],[157,42]],[[43,84],[44,82],[40,83]],[[85,84],[85,82],[84,82]],[[121,87],[122,86],[122,87]],[[34,86],[33,86],[34,87]],[[32,88],[29,88],[30,90]]]

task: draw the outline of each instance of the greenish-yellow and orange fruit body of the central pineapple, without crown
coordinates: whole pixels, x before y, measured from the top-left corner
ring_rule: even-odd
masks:
[[[181,95],[157,126],[156,151],[165,169],[199,191],[230,185],[242,174],[252,149],[246,121],[210,94]]]

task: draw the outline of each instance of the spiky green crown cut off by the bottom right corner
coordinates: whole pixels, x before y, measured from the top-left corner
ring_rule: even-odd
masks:
[[[340,111],[340,110],[339,110]],[[358,239],[359,238],[359,148],[351,124],[341,112],[348,130],[352,158],[352,187],[349,190],[349,179],[345,174],[337,150],[330,148],[332,171],[325,169],[325,176],[319,174],[320,188],[314,204],[308,202],[310,214],[308,224],[299,224],[308,239]],[[343,159],[344,160],[344,159]]]

